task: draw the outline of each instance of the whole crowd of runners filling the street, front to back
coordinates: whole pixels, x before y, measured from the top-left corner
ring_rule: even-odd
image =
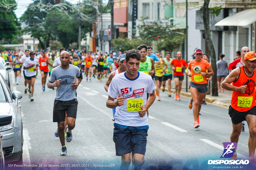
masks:
[[[62,146],[60,155],[67,155],[65,139],[67,142],[72,140],[71,130],[75,127],[78,106],[76,89],[83,75],[89,82],[92,78],[96,80],[96,77],[100,82],[104,80],[104,88],[108,93],[106,106],[113,111],[113,141],[116,155],[122,157],[120,169],[127,169],[131,161],[134,168],[142,167],[148,135],[148,109],[156,96],[157,101],[161,101],[161,86],[163,92],[168,91],[168,97],[172,97],[172,79],[175,82],[173,99],[181,100],[184,73],[190,77],[191,97],[188,107],[193,108],[194,127],[200,126],[201,105],[206,104],[208,82],[214,72],[211,63],[207,61],[208,55],[201,49],[196,48],[193,56],[195,59],[188,63],[183,59],[180,51],[175,57],[169,52],[165,57],[161,57],[158,51],[153,53],[152,47],[146,45],[140,45],[136,50],[124,51],[118,56],[113,52],[103,55],[102,51],[68,52],[65,48],[50,53],[46,50],[40,52],[25,50],[24,54],[20,50],[1,53],[1,57],[9,61],[13,67],[17,85],[19,77],[24,76],[24,93],[28,93],[30,101],[34,101],[34,84],[38,73],[41,74],[42,91],[45,91],[49,73],[47,86],[56,90],[53,122],[58,123],[55,136],[59,137]],[[220,56],[220,60],[223,57]],[[233,91],[229,107],[233,124],[230,140],[238,142],[241,130],[244,131],[244,121],[247,121],[250,133],[249,159],[253,161],[256,148],[255,59],[256,54],[248,47],[243,47],[241,58],[235,59],[228,66],[231,73],[227,72],[227,75],[218,77],[218,81],[222,82],[222,88]],[[219,62],[220,65],[221,63]],[[236,150],[231,159],[237,159]]]

